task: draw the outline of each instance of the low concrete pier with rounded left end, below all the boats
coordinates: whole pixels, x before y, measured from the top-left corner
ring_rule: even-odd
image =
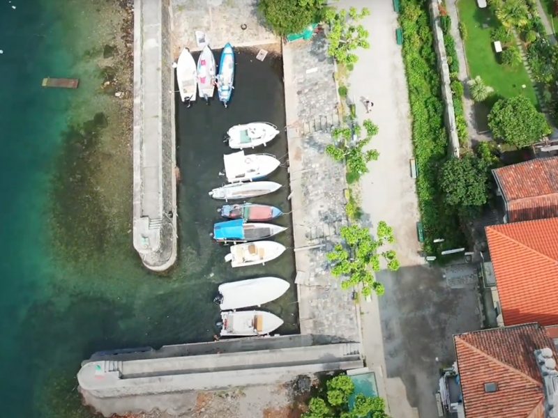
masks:
[[[301,374],[358,369],[359,343],[295,346],[239,353],[87,362],[77,373],[80,390],[95,398],[169,394],[269,385]]]

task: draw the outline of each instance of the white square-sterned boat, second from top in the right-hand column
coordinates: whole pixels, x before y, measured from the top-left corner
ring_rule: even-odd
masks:
[[[244,155],[244,151],[223,155],[225,173],[229,183],[259,180],[276,171],[281,162],[270,154]]]

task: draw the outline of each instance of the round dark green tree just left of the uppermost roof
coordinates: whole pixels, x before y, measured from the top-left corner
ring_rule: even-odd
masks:
[[[472,154],[450,158],[440,172],[445,200],[452,206],[482,206],[488,199],[487,181],[485,163]]]

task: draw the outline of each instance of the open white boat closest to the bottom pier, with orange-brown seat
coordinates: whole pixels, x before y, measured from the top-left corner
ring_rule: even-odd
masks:
[[[283,320],[266,311],[221,312],[221,336],[266,335],[283,325]]]

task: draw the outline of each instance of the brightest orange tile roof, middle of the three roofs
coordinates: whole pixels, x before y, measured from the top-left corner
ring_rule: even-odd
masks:
[[[505,325],[558,324],[558,218],[486,227]]]

